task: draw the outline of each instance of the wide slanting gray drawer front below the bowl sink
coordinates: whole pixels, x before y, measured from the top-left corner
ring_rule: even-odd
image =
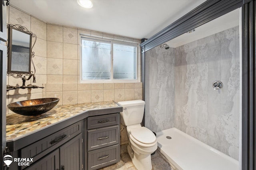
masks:
[[[42,156],[56,149],[79,133],[82,133],[82,121],[74,123],[48,137],[45,137],[27,147],[21,149],[21,158],[33,158],[38,160]],[[24,167],[22,167],[24,168]]]

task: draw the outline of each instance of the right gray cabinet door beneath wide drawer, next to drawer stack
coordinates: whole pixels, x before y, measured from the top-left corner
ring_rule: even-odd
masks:
[[[60,147],[60,169],[82,170],[82,133]]]

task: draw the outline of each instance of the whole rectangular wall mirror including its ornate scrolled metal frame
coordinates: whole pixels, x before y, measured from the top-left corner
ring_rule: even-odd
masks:
[[[8,24],[8,68],[7,75],[31,74],[31,63],[34,52],[32,48],[36,35],[22,25]],[[32,46],[32,38],[34,43]],[[35,72],[35,71],[34,71]]]

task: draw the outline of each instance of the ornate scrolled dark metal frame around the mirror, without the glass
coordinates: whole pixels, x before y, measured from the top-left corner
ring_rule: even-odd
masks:
[[[16,24],[7,24],[8,28],[8,49],[7,49],[7,57],[8,57],[8,68],[7,68],[7,76],[13,76],[14,78],[22,78],[22,76],[28,76],[30,74],[35,74],[36,69],[33,63],[32,58],[34,57],[34,51],[32,51],[35,43],[36,43],[36,35],[22,25]],[[15,29],[17,31],[26,33],[30,35],[30,49],[29,49],[29,70],[28,72],[23,71],[13,71],[11,70],[11,63],[12,63],[12,30]],[[32,40],[34,39],[34,42]],[[31,63],[34,67],[34,71],[31,70]]]

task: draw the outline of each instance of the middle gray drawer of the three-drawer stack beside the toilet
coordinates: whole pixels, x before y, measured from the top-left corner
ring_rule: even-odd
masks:
[[[99,149],[119,142],[119,126],[88,130],[88,150]]]

